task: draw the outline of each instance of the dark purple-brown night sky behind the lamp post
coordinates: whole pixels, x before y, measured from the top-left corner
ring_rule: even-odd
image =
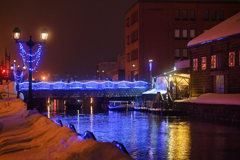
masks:
[[[38,72],[90,79],[96,62],[117,61],[117,55],[124,54],[124,15],[136,1],[1,0],[0,60],[7,47],[11,61],[23,63],[12,38],[14,27],[21,30],[22,41],[28,41],[30,33],[33,41],[40,41],[44,27],[49,39]]]

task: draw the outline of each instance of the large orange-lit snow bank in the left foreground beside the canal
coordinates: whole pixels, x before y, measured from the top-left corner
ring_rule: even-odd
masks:
[[[21,99],[0,101],[0,159],[132,159],[110,142],[82,140]]]

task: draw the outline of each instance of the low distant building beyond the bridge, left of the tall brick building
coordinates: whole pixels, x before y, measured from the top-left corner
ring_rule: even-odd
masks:
[[[95,64],[96,77],[100,80],[109,78],[107,72],[117,69],[117,62],[99,62]]]

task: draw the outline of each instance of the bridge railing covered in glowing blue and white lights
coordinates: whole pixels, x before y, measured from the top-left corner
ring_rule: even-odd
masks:
[[[28,90],[28,82],[19,83],[19,90]],[[105,90],[105,89],[148,89],[148,83],[144,81],[85,81],[85,82],[38,82],[32,83],[33,90]]]

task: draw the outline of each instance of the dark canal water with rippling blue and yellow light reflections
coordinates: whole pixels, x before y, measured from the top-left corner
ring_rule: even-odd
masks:
[[[78,133],[91,131],[98,141],[122,143],[137,160],[240,159],[237,124],[189,117],[163,117],[138,111],[104,111],[96,106],[79,110],[47,106],[41,113]]]

